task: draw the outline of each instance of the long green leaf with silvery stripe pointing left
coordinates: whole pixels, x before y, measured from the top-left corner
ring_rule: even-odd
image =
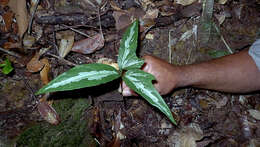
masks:
[[[94,63],[78,65],[56,77],[36,94],[96,86],[112,81],[118,77],[120,77],[118,71],[114,67],[106,64]]]

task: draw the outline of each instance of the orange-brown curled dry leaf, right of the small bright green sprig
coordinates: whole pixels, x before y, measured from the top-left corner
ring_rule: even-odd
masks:
[[[29,72],[38,72],[40,71],[44,64],[39,61],[40,54],[37,52],[31,61],[26,65],[26,68]]]

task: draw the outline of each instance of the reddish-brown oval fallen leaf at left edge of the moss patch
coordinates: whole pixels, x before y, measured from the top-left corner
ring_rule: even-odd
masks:
[[[53,125],[58,125],[60,122],[60,117],[52,106],[50,106],[46,101],[40,101],[37,105],[40,115],[48,123]]]

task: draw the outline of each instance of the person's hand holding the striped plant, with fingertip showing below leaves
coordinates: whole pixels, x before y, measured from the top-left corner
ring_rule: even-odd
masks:
[[[146,55],[143,57],[145,64],[142,70],[154,75],[156,81],[154,86],[161,95],[168,94],[176,88],[179,70],[178,67],[154,56]],[[137,95],[125,82],[122,83],[123,96]]]

